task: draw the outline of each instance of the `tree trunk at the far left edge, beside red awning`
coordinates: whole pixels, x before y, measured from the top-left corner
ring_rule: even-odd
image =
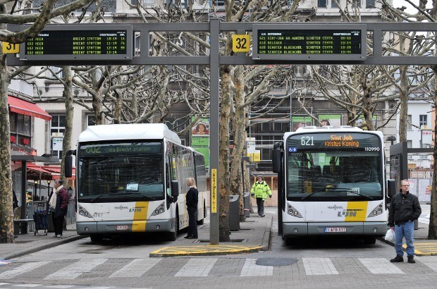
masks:
[[[11,132],[8,109],[10,79],[5,54],[0,54],[0,71],[0,243],[13,243]]]

